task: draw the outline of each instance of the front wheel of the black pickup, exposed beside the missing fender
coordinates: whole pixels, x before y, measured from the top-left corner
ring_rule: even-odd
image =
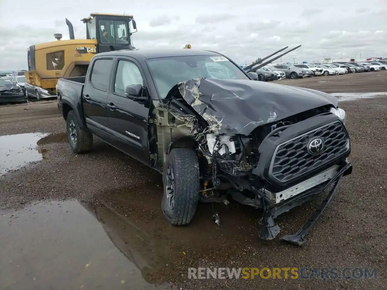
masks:
[[[194,150],[172,149],[164,168],[161,210],[173,225],[188,225],[199,201],[199,161]]]

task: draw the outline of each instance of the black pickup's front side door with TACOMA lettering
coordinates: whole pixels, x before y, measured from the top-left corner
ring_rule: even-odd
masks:
[[[140,64],[128,57],[119,57],[108,95],[109,126],[115,135],[114,146],[145,164],[149,164],[148,117],[149,101],[136,102],[125,96],[128,85],[143,86],[142,96],[150,95]]]

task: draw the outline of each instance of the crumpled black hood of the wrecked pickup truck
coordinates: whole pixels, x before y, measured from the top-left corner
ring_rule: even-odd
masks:
[[[171,91],[176,87],[215,134],[248,135],[258,126],[338,104],[336,97],[317,90],[252,80],[194,78]]]

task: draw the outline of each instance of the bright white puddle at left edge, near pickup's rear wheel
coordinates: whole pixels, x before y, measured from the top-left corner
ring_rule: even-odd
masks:
[[[25,133],[0,136],[0,176],[19,169],[30,162],[42,160],[37,142],[44,133]]]

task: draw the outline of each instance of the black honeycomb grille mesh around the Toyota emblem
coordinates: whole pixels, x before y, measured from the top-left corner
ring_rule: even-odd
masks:
[[[325,143],[323,151],[317,156],[310,155],[307,151],[308,141],[313,137],[320,137]],[[320,165],[329,164],[349,150],[346,130],[341,121],[334,121],[278,145],[269,174],[282,182],[291,181],[312,172]]]

